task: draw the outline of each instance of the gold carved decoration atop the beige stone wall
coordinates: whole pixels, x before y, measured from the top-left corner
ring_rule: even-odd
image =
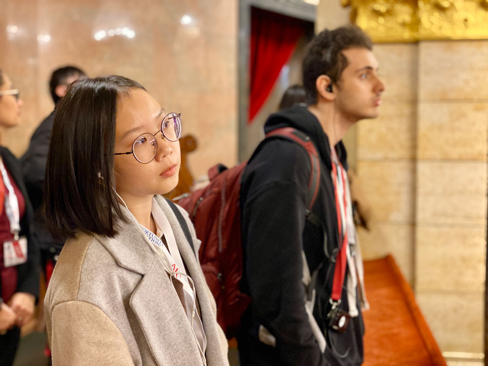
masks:
[[[488,39],[488,0],[341,0],[375,42]]]

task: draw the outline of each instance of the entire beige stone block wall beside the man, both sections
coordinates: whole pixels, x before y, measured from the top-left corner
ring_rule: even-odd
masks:
[[[346,24],[322,0],[316,30]],[[366,259],[392,253],[443,352],[484,351],[488,41],[376,44],[380,117],[347,138],[369,199]],[[352,138],[351,138],[352,136]]]

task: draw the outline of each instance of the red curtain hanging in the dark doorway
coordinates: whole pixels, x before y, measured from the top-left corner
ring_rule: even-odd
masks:
[[[266,101],[280,71],[305,32],[305,21],[251,8],[249,119]]]

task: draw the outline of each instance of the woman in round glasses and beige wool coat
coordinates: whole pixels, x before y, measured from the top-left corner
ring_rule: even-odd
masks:
[[[181,114],[121,76],[74,82],[49,146],[63,245],[45,297],[53,365],[228,365],[178,183]]]

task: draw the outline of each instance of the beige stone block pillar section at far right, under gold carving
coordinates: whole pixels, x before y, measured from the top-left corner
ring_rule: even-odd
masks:
[[[415,290],[443,350],[483,352],[488,41],[418,49]]]

